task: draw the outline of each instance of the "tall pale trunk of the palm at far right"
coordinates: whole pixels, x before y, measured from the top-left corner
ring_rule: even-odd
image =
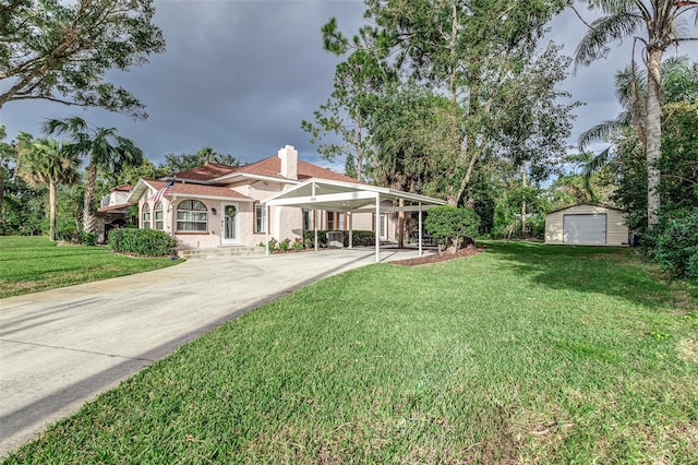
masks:
[[[647,223],[652,226],[658,222],[660,207],[660,169],[662,123],[660,109],[660,90],[663,50],[651,49],[647,75]]]

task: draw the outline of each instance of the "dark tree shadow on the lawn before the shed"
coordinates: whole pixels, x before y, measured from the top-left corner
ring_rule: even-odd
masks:
[[[650,308],[671,306],[667,286],[635,259],[634,249],[540,242],[488,242],[486,247],[486,253],[530,276],[537,286],[603,294]]]

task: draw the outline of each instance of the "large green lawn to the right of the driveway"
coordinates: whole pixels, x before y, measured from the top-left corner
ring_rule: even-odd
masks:
[[[324,279],[7,463],[696,463],[696,289],[631,253],[491,243]]]

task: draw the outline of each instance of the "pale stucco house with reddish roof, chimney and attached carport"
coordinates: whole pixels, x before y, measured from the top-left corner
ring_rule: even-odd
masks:
[[[303,230],[376,230],[376,225],[380,239],[389,240],[395,236],[397,203],[443,203],[369,186],[300,160],[291,145],[250,165],[206,164],[172,178],[171,192],[161,199],[154,195],[167,179],[140,179],[128,202],[139,205],[141,228],[164,230],[190,249],[255,247],[270,238],[302,239]],[[289,196],[291,192],[296,196]]]

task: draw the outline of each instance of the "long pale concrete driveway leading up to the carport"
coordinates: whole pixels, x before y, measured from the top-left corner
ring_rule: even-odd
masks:
[[[416,252],[381,252],[382,261]],[[373,250],[190,260],[0,300],[0,456],[141,368]]]

